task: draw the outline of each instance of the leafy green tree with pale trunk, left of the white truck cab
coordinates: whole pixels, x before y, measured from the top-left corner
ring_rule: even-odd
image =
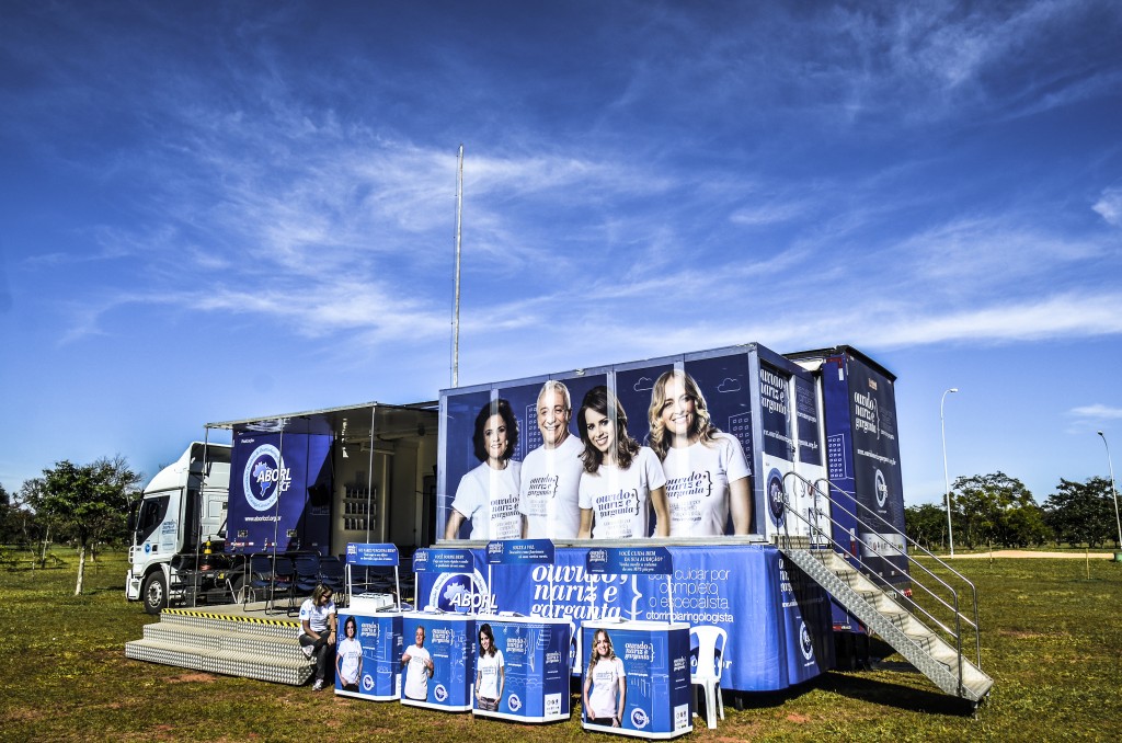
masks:
[[[77,584],[82,594],[86,549],[104,534],[119,531],[128,513],[129,494],[140,481],[123,457],[77,466],[68,460],[43,470],[42,512],[77,542]]]

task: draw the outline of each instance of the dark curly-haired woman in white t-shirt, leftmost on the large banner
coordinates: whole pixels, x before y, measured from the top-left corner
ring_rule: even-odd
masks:
[[[460,478],[444,539],[459,539],[465,521],[471,522],[468,539],[521,539],[522,462],[511,459],[518,448],[518,421],[511,403],[496,400],[482,406],[471,443],[481,464]]]

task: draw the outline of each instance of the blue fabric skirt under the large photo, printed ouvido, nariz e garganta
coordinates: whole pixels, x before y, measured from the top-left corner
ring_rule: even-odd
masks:
[[[591,548],[597,549],[597,548]],[[728,633],[721,686],[771,691],[834,667],[829,602],[824,589],[770,545],[669,547],[672,585],[657,575],[594,574],[589,548],[559,548],[554,565],[482,575],[486,556],[473,550],[471,572],[417,575],[417,603],[445,611],[478,606],[532,616],[585,620],[670,620],[714,625]],[[476,595],[468,598],[471,583]]]

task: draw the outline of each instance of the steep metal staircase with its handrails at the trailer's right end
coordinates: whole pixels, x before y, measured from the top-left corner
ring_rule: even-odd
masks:
[[[808,493],[813,494],[815,507],[808,514],[801,514],[791,507],[788,499],[788,477],[801,480]],[[784,534],[778,538],[780,551],[944,692],[967,699],[975,706],[985,698],[993,686],[993,679],[982,671],[977,590],[974,584],[825,478],[810,483],[797,473],[788,473],[783,490],[784,515],[799,520],[809,531],[808,535],[792,536],[791,520],[784,519]],[[822,499],[829,503],[828,514],[821,507],[825,505]],[[900,543],[907,545],[905,550],[884,540],[875,543],[863,541],[852,532],[850,539],[855,544],[847,550],[833,536],[833,526],[836,524],[834,514],[839,512],[855,520],[865,533],[899,538]],[[858,545],[865,549],[853,549]],[[936,575],[908,552],[923,553],[938,565],[945,577]],[[911,597],[899,594],[895,586],[874,570],[867,569],[861,553],[884,559],[907,559],[913,588],[922,591],[921,600],[912,600]],[[854,568],[843,556],[855,559],[866,569]],[[960,611],[960,598],[967,594],[971,615]],[[927,624],[918,615],[922,615]],[[974,660],[966,658],[963,652],[964,635],[969,634],[973,634]]]

